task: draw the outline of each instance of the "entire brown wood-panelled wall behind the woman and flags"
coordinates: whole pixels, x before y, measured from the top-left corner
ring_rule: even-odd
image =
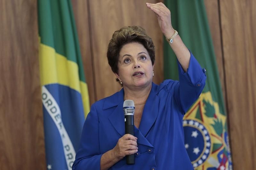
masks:
[[[153,81],[163,80],[163,36],[146,2],[72,0],[91,104],[120,86],[106,51],[113,32],[140,25],[156,46]],[[204,0],[225,98],[235,170],[256,161],[256,1]],[[0,169],[46,169],[36,0],[0,1]]]

